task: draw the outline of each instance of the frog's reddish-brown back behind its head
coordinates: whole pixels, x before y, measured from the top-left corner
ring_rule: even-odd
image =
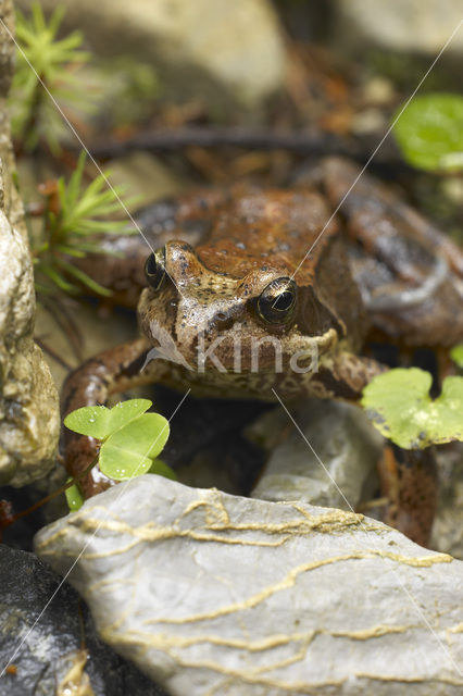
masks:
[[[243,278],[279,270],[295,278],[305,304],[303,333],[323,331],[320,307],[340,336],[359,347],[366,322],[340,227],[317,190],[237,188],[196,248],[214,273]]]

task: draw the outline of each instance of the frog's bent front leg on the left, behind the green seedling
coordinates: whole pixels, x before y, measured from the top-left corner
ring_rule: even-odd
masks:
[[[165,362],[152,360],[142,370],[150,348],[152,345],[147,338],[139,338],[110,348],[74,370],[62,389],[63,418],[84,406],[104,405],[111,394],[161,381],[166,371]],[[62,436],[62,453],[70,475],[82,476],[98,455],[97,442],[66,428]],[[79,478],[86,498],[112,484],[97,467]]]

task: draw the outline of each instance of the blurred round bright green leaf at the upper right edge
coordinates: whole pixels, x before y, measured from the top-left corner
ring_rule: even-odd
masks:
[[[400,110],[395,115],[397,119]],[[429,171],[463,170],[463,97],[415,97],[393,126],[403,158]]]

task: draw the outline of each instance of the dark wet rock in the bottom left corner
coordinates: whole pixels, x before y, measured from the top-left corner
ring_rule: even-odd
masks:
[[[32,554],[0,546],[0,673],[59,583],[60,577]],[[0,696],[163,696],[160,687],[101,643],[83,605],[80,625],[79,604],[77,593],[64,584],[13,658],[16,674],[0,676]],[[83,627],[87,661],[80,650]],[[84,686],[88,681],[92,691],[65,691],[70,667],[75,683]]]

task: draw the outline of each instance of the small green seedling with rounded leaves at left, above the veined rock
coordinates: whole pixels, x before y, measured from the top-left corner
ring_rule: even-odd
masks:
[[[147,413],[149,399],[121,401],[112,409],[105,406],[86,406],[64,419],[64,425],[75,433],[101,442],[98,464],[115,481],[127,481],[145,473],[176,478],[173,470],[158,455],[170,434],[168,421],[159,413]],[[83,502],[76,482],[67,488],[71,510]]]

